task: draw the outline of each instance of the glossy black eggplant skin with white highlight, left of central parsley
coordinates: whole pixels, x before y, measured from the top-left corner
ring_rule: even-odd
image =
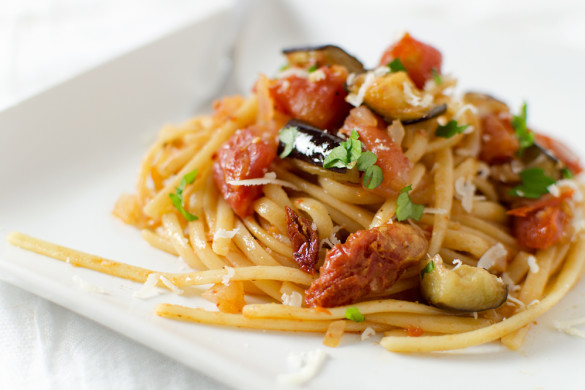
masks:
[[[296,127],[298,135],[291,153],[287,158],[296,158],[310,164],[323,168],[323,161],[329,152],[345,140],[336,135],[328,133],[319,128],[313,127],[298,119],[291,119],[284,125],[286,127]],[[278,142],[278,154],[282,153],[285,145]],[[345,173],[345,168],[328,168],[331,171]]]

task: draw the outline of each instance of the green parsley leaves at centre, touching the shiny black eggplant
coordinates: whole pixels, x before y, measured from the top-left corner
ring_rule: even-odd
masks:
[[[341,142],[325,157],[323,168],[352,169],[357,166],[359,171],[364,172],[364,187],[372,190],[384,180],[382,169],[374,165],[378,161],[374,153],[362,152],[362,143],[358,138],[358,132],[353,130],[347,141]]]

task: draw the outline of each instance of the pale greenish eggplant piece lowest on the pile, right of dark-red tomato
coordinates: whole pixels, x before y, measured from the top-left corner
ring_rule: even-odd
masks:
[[[431,305],[478,312],[495,309],[506,302],[508,286],[496,275],[468,265],[448,269],[440,256],[431,261],[434,266],[425,267],[420,282],[421,293]]]

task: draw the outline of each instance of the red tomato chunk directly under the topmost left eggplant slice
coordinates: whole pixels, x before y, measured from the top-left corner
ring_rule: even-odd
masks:
[[[335,133],[351,109],[345,101],[343,85],[347,79],[345,67],[322,66],[324,77],[310,78],[291,75],[274,80],[270,93],[277,110],[320,129]]]

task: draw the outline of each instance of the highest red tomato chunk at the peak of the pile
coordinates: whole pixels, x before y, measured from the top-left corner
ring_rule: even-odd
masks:
[[[423,88],[427,80],[433,77],[433,69],[441,73],[443,56],[434,47],[417,41],[408,33],[401,40],[392,44],[380,59],[380,66],[387,65],[399,58],[406,72],[418,88]]]

